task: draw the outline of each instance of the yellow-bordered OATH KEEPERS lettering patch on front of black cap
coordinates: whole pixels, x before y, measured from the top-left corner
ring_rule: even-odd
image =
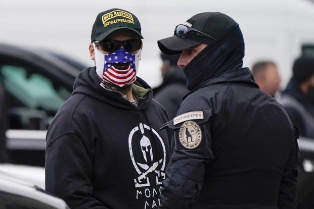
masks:
[[[131,23],[134,24],[133,16],[130,13],[114,10],[102,16],[104,27],[115,23]]]

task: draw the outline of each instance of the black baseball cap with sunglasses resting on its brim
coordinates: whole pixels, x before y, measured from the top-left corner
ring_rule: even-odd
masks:
[[[174,34],[171,37],[158,40],[159,49],[167,55],[182,53],[182,50],[194,47],[200,43],[212,44],[219,37],[227,33],[237,23],[228,15],[219,12],[204,12],[194,15],[182,25],[186,25],[195,31],[188,32],[189,36],[178,37]],[[205,37],[205,33],[212,38]]]

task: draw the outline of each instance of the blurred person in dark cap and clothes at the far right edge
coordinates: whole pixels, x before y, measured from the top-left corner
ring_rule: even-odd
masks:
[[[293,64],[293,75],[283,91],[281,102],[289,117],[300,128],[300,135],[314,140],[314,47],[302,46],[302,55]],[[310,152],[300,156],[300,162]],[[304,165],[303,165],[304,166]],[[302,169],[303,167],[300,167]],[[298,176],[298,209],[314,208],[312,172],[303,171]]]

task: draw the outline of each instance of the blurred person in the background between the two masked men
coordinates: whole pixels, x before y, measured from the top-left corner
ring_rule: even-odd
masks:
[[[169,119],[172,119],[182,102],[182,97],[189,92],[186,76],[177,66],[179,55],[160,54],[162,83],[153,88],[154,98],[166,109]]]

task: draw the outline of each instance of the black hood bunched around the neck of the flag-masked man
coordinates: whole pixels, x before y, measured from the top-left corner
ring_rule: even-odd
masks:
[[[120,109],[134,110],[134,108],[136,108],[127,99],[123,98],[120,92],[104,88],[101,84],[102,80],[96,74],[96,67],[85,68],[74,81],[72,95],[77,93],[84,94],[102,102],[109,103]],[[139,77],[137,77],[137,81],[132,85],[149,89],[139,101],[138,108],[145,109],[152,99],[151,87]]]

